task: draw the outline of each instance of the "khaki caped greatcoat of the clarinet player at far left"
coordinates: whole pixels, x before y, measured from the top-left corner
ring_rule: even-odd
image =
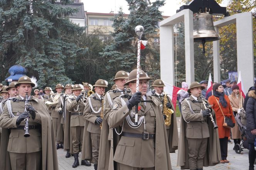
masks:
[[[17,97],[18,100],[21,100],[20,96]],[[8,105],[5,105],[3,114],[0,117],[0,127],[2,127],[2,136],[1,138],[1,148],[0,148],[0,169],[1,170],[10,170],[10,157],[7,150],[10,152],[15,153],[30,153],[30,152],[37,152],[38,150],[42,150],[42,170],[58,170],[58,160],[57,160],[57,150],[56,150],[56,143],[54,137],[54,128],[52,125],[52,119],[49,115],[49,112],[44,104],[43,100],[39,100],[34,96],[30,97],[32,105],[35,110],[37,111],[36,117],[34,120],[29,118],[29,125],[41,124],[42,128],[40,131],[38,129],[30,130],[30,137],[25,138],[23,136],[24,130],[23,129],[13,129],[8,130],[8,128],[16,128],[16,120],[17,117],[11,118]],[[10,101],[11,110],[13,115],[17,115],[18,112],[22,113],[25,109],[25,102],[13,102]],[[24,125],[24,121],[20,123],[20,125]],[[13,134],[13,135],[12,135]],[[11,137],[12,135],[12,137]],[[35,136],[36,135],[36,136]],[[10,136],[10,137],[9,137]],[[38,137],[40,136],[40,140]],[[9,138],[12,138],[13,143],[15,146],[11,147],[11,143],[9,143]],[[17,142],[14,142],[17,141]],[[19,142],[18,142],[19,141]],[[8,145],[9,143],[9,145]],[[35,147],[40,145],[41,148]]]

